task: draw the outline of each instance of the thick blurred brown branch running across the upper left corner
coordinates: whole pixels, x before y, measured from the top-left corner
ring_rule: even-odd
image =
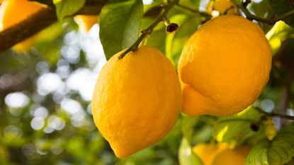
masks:
[[[77,14],[83,15],[98,15],[101,8],[106,4],[106,1],[87,1],[86,5],[81,8]],[[9,49],[18,42],[26,40],[30,36],[35,35],[41,30],[47,28],[52,23],[57,21],[55,10],[52,8],[42,8],[37,13],[30,16],[21,23],[11,26],[6,30],[0,32],[0,53]]]

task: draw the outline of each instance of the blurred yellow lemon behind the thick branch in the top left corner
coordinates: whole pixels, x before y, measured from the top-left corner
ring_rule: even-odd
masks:
[[[27,0],[4,0],[0,6],[0,31],[20,23],[43,6],[37,2]],[[13,47],[16,52],[26,52],[33,46],[35,37],[30,37]]]

